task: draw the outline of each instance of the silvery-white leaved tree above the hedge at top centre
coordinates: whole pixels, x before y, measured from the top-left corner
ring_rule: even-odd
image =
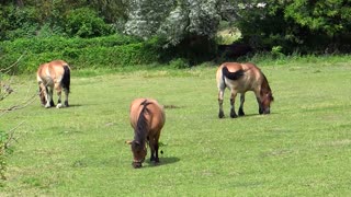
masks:
[[[131,1],[125,33],[143,38],[158,35],[166,46],[186,37],[214,38],[218,24],[219,0]]]

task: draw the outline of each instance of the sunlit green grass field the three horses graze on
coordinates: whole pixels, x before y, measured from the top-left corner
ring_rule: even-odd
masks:
[[[215,67],[97,74],[71,80],[69,108],[38,100],[0,116],[23,123],[0,196],[347,196],[351,194],[351,60],[261,62],[272,114],[218,119]],[[73,71],[75,72],[75,71]],[[30,81],[30,82],[29,82]],[[14,79],[5,108],[32,95],[35,77]],[[166,106],[160,165],[132,167],[128,106],[135,97]]]

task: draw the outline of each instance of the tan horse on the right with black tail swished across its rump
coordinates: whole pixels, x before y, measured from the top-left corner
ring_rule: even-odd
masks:
[[[259,104],[259,114],[270,114],[273,95],[265,76],[253,63],[225,62],[219,66],[216,73],[218,86],[218,117],[223,118],[223,96],[226,88],[230,90],[230,117],[236,118],[235,97],[240,93],[239,116],[244,116],[245,93],[253,91]]]

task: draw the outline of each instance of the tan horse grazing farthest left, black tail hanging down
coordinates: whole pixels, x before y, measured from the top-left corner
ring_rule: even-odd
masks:
[[[70,68],[66,61],[54,60],[41,65],[36,72],[36,80],[39,85],[39,97],[43,106],[45,106],[46,108],[55,106],[53,101],[54,89],[57,91],[58,95],[58,102],[56,107],[60,108],[63,106],[63,89],[66,95],[65,106],[68,106]]]

